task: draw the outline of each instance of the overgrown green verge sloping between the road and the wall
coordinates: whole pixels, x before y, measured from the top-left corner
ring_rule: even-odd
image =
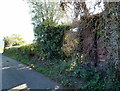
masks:
[[[120,81],[117,80],[114,73],[101,73],[94,68],[77,66],[71,60],[38,60],[28,56],[14,55],[4,53],[5,56],[16,59],[37,72],[43,73],[66,88],[78,89],[112,89],[119,91]]]

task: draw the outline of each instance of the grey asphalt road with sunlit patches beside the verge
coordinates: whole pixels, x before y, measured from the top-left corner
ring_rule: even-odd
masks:
[[[2,89],[27,86],[30,89],[57,89],[56,82],[30,67],[6,56],[2,56]]]

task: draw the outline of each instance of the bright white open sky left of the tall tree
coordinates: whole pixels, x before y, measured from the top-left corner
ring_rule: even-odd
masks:
[[[0,38],[20,34],[27,41],[34,39],[29,7],[23,0],[0,1]]]

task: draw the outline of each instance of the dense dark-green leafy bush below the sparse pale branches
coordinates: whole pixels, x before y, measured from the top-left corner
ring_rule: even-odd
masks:
[[[55,26],[55,22],[46,23],[48,21],[44,21],[34,29],[36,41],[41,44],[43,56],[48,59],[63,57],[62,40],[68,26]]]

